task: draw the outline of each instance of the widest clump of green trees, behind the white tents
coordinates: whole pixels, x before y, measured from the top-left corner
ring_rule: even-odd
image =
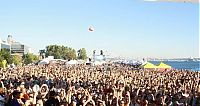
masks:
[[[76,59],[76,50],[70,47],[49,45],[46,47],[46,56],[54,56],[55,59]]]

